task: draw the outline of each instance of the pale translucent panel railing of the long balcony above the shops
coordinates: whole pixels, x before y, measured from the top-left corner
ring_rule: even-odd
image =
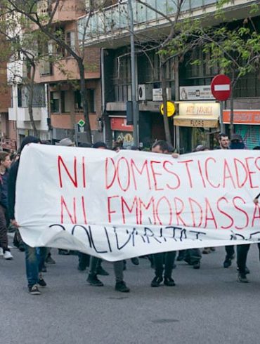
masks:
[[[167,19],[160,13],[174,20],[176,13],[175,0],[143,0],[143,4],[132,0],[135,31],[150,29],[160,25],[167,25]],[[214,13],[219,0],[184,0],[181,8],[182,15],[204,15]],[[254,4],[255,0],[232,0],[223,6],[224,11],[238,8],[242,11],[242,16],[248,10],[248,6]],[[241,15],[241,12],[240,12]],[[236,18],[236,16],[234,17]],[[242,18],[242,17],[241,17]],[[127,0],[119,0],[118,4],[103,8],[89,15],[85,15],[78,20],[79,42],[82,45],[90,46],[98,43],[98,40],[110,36],[111,39],[120,38],[129,34],[129,9]],[[84,39],[84,42],[83,42]]]

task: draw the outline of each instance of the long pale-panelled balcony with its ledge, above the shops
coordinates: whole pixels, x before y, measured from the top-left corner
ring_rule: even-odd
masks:
[[[174,0],[143,0],[148,5],[155,8],[158,12],[164,13],[167,17],[174,20],[176,13],[176,1]],[[212,25],[212,17],[205,20],[206,15],[213,14],[216,11],[218,0],[184,0],[181,18],[192,16],[193,18],[203,18],[206,25]],[[225,5],[226,18],[242,18],[250,4],[254,0],[233,0]],[[169,32],[169,20],[162,17],[160,13],[139,4],[132,0],[134,14],[135,33],[150,32],[155,38]],[[129,11],[127,1],[121,1],[105,8],[103,11],[96,11],[89,18],[88,15],[78,20],[79,41],[83,39],[84,27],[89,20],[86,28],[84,46],[102,46],[112,48],[126,44],[125,38],[129,36]],[[230,13],[230,14],[229,14]],[[217,23],[217,22],[216,22]],[[156,28],[156,29],[155,29]],[[156,36],[155,36],[156,35]],[[141,37],[139,37],[140,39]],[[144,38],[145,39],[145,38]],[[147,40],[147,36],[146,36]]]

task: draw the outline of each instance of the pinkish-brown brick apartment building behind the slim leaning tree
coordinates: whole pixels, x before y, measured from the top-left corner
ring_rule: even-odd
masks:
[[[55,1],[54,1],[55,2]],[[49,1],[39,1],[39,11],[46,11]],[[54,3],[51,5],[52,8]],[[53,27],[63,32],[65,42],[74,51],[80,47],[77,39],[77,18],[86,14],[82,0],[63,0],[53,17]],[[79,70],[74,58],[53,41],[41,48],[41,55],[58,55],[55,62],[42,60],[35,75],[38,85],[46,86],[48,104],[48,128],[51,138],[60,140],[67,136],[79,142],[86,141],[84,129],[77,126],[84,119],[82,99],[79,91]],[[84,66],[88,96],[89,119],[93,140],[103,139],[101,86],[100,86],[100,48],[85,48]],[[82,132],[83,131],[83,132]]]

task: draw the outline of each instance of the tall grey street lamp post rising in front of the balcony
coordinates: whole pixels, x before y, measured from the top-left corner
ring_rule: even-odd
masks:
[[[139,147],[139,105],[136,100],[136,61],[134,47],[134,15],[131,0],[128,0],[129,19],[130,19],[130,43],[131,43],[131,93],[133,104],[133,123],[134,123],[134,145]]]

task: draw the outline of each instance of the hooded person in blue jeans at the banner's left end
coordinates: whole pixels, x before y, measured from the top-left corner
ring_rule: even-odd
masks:
[[[27,136],[22,140],[20,146],[20,152],[22,152],[25,145],[28,143],[40,143],[39,138],[34,136]],[[19,227],[15,220],[15,185],[18,175],[19,159],[11,166],[9,178],[8,178],[8,211],[11,220],[11,224],[15,227]],[[30,168],[28,166],[28,168]],[[46,258],[46,248],[35,248],[25,244],[25,266],[26,277],[28,283],[28,290],[32,295],[39,295],[39,286],[46,286],[46,282],[42,278],[41,269],[44,265]]]

